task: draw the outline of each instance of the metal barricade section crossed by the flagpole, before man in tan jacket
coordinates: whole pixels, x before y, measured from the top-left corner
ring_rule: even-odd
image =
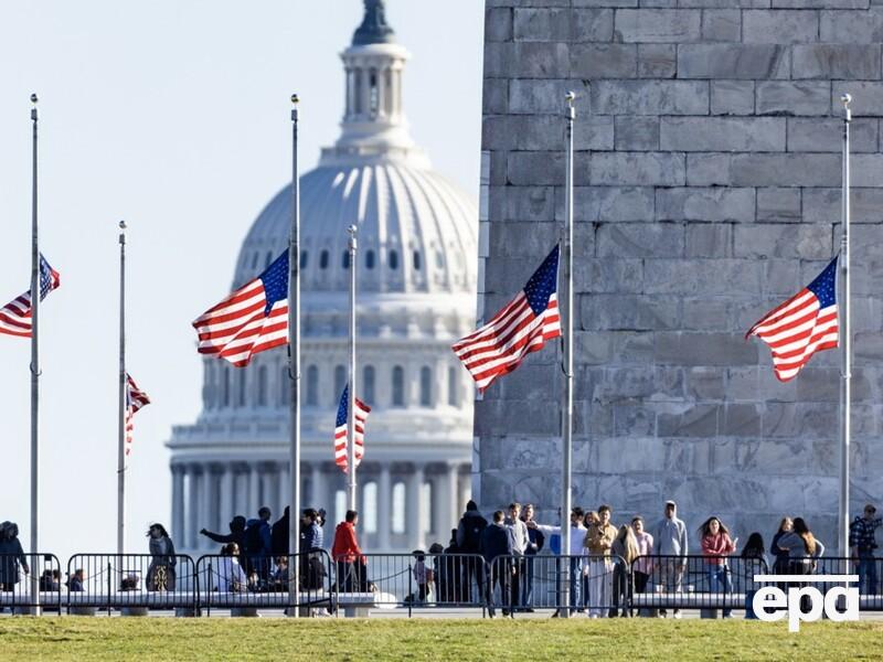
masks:
[[[491,616],[497,609],[504,616],[538,609],[627,616],[630,586],[629,566],[615,555],[498,556],[490,564],[485,600]]]

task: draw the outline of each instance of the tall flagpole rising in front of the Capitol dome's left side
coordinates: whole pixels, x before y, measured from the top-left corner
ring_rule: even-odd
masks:
[[[291,95],[291,229],[288,237],[288,378],[291,383],[289,553],[300,546],[300,180],[297,163],[298,96]],[[291,563],[294,559],[294,563]],[[300,564],[289,557],[288,616],[300,611]]]

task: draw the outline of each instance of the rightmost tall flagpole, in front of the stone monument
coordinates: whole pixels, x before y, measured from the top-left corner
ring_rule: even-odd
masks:
[[[840,512],[838,513],[838,543],[841,558],[849,557],[849,453],[852,409],[852,331],[850,329],[850,265],[849,265],[849,224],[850,224],[850,174],[849,174],[849,125],[852,121],[850,104],[852,97],[844,94],[840,97],[843,104],[843,191],[842,191],[842,233],[840,236],[840,277],[843,279],[842,299],[840,303],[842,361],[841,372],[841,423],[840,423]],[[849,565],[849,564],[847,564]],[[849,570],[849,568],[845,568]]]

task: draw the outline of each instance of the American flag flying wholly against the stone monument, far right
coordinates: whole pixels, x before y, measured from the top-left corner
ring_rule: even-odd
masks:
[[[779,382],[797,376],[821,350],[838,346],[837,258],[808,287],[764,316],[745,334],[756,335],[773,350]]]

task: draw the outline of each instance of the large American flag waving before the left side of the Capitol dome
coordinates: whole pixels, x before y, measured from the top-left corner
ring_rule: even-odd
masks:
[[[288,250],[254,280],[246,282],[193,328],[200,354],[215,354],[242,367],[258,352],[288,342]]]

